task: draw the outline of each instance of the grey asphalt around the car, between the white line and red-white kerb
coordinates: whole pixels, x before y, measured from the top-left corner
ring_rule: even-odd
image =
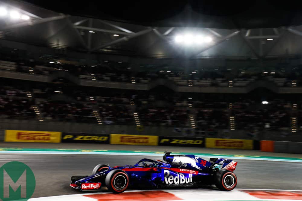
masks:
[[[0,166],[10,161],[27,164],[36,177],[32,197],[81,193],[69,187],[73,175],[90,175],[95,165],[135,164],[144,156],[131,155],[63,155],[63,154],[2,154]],[[161,157],[146,156],[150,159]],[[207,158],[205,158],[207,159]],[[237,160],[237,188],[302,190],[302,164],[294,162]]]

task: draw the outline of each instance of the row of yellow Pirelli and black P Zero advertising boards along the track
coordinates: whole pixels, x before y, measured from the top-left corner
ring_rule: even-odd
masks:
[[[152,146],[188,146],[223,149],[255,149],[274,151],[273,141],[203,138],[183,136],[153,136],[153,135],[128,135],[106,133],[73,133],[73,132],[49,132],[30,130],[5,130],[4,141],[6,142],[62,142],[62,143],[101,143],[101,144],[129,144],[129,145],[152,145]],[[271,144],[272,144],[271,143]],[[293,145],[297,149],[300,144]],[[282,147],[282,146],[280,146]],[[281,149],[281,148],[280,148]]]

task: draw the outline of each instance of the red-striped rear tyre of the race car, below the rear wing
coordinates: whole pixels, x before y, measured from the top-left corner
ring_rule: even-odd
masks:
[[[221,170],[216,174],[215,185],[219,190],[233,190],[237,185],[237,177],[232,171]]]

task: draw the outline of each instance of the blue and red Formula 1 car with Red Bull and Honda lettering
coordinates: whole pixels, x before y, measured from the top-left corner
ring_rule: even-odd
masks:
[[[113,193],[132,188],[201,187],[216,185],[230,191],[236,187],[233,173],[237,162],[229,159],[210,158],[209,161],[195,155],[170,155],[165,152],[163,161],[142,159],[135,165],[115,166],[99,164],[91,176],[72,176],[70,186],[81,190],[101,190],[107,187]]]

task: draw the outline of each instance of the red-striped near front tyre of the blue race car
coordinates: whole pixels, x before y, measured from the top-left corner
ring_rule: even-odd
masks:
[[[107,174],[105,184],[112,193],[122,193],[128,187],[129,176],[125,171],[112,170]]]

